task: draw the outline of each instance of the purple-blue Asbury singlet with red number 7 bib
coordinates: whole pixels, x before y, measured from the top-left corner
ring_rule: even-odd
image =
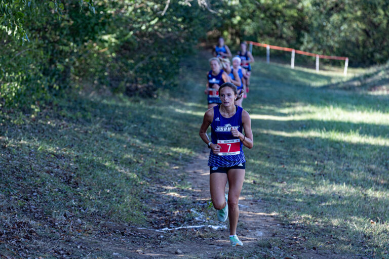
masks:
[[[243,108],[237,107],[237,112],[230,118],[221,116],[220,105],[213,107],[213,120],[211,123],[212,143],[221,146],[220,153],[215,155],[211,149],[208,159],[209,166],[231,167],[246,162],[243,153],[243,144],[237,137],[232,136],[231,127],[238,128],[242,133],[242,111]]]

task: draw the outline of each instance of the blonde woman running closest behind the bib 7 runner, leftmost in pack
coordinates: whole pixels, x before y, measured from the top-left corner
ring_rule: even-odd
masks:
[[[218,58],[211,58],[209,60],[211,70],[207,73],[207,88],[204,93],[208,95],[208,109],[221,104],[219,98],[219,88],[224,82],[229,82],[229,77],[226,72],[221,69],[220,60]]]

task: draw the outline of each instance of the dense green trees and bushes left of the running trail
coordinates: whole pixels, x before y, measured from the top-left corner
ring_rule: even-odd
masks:
[[[39,110],[87,84],[154,96],[178,85],[181,60],[212,27],[213,11],[201,1],[201,8],[191,1],[0,1],[8,8],[2,28],[11,31],[0,36],[3,107]],[[23,19],[13,21],[10,13],[19,11]]]

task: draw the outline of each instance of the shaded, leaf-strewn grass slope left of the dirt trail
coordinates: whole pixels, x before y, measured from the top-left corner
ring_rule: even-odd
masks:
[[[201,119],[193,113],[204,111],[203,96],[185,97],[70,94],[36,117],[3,117],[0,255],[80,258],[91,251],[50,247],[55,240],[99,234],[104,222],[148,226],[146,212],[158,207],[150,202],[155,185],[181,187],[182,181],[186,188],[179,169],[202,148]],[[176,202],[166,199],[164,205],[170,201]]]

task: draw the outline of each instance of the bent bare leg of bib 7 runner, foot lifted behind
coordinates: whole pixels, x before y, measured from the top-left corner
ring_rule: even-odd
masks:
[[[213,172],[209,175],[209,188],[211,191],[212,204],[215,209],[225,207],[225,186],[227,185],[227,174],[224,172]]]

